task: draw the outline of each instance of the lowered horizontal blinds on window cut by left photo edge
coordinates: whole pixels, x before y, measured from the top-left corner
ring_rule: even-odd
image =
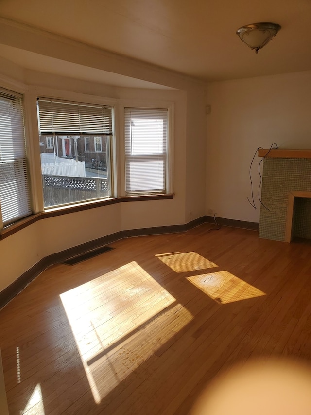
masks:
[[[3,225],[31,215],[22,101],[0,90],[0,205]]]

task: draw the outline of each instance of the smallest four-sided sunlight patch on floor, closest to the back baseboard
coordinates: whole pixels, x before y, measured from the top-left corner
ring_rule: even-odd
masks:
[[[175,272],[189,272],[195,270],[205,270],[214,268],[218,265],[204,258],[196,252],[169,253],[155,255]]]

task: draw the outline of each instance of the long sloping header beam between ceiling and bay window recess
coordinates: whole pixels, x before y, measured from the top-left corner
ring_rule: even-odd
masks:
[[[0,43],[104,71],[186,90],[206,81],[0,17]]]

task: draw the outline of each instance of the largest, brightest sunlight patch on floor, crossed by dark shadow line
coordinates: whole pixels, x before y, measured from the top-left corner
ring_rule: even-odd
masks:
[[[60,298],[96,403],[193,318],[135,261]]]

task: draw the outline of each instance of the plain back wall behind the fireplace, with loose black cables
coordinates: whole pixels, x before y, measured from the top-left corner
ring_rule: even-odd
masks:
[[[206,214],[259,222],[258,147],[311,148],[311,72],[214,82],[208,87]]]

